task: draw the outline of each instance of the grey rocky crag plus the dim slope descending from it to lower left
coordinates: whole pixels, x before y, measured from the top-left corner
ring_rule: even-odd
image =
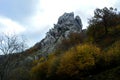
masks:
[[[5,77],[7,80],[29,80],[29,71],[33,66],[33,61],[55,51],[62,40],[68,39],[71,33],[80,33],[81,31],[82,22],[80,17],[74,16],[73,12],[64,13],[59,17],[57,24],[54,24],[53,29],[46,33],[46,37],[43,40],[23,53],[11,55],[12,60],[8,68],[9,72]],[[3,57],[0,56],[0,63],[2,59]]]

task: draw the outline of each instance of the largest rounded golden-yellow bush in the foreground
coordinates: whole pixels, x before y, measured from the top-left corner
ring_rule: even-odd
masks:
[[[57,74],[69,77],[87,75],[95,68],[100,56],[100,49],[96,46],[78,45],[63,55]]]

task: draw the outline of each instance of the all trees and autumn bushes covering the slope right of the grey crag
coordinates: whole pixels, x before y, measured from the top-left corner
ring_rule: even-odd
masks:
[[[72,33],[47,58],[41,57],[33,62],[31,79],[119,80],[119,36],[120,14],[117,9],[96,9],[87,30]]]

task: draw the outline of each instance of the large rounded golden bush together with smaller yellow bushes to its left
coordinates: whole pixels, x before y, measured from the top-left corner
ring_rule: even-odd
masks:
[[[35,80],[57,79],[58,77],[60,79],[68,79],[73,76],[78,78],[78,76],[91,73],[100,56],[100,49],[96,46],[88,44],[77,45],[60,57],[50,56],[47,61],[33,67],[31,72]],[[89,73],[86,73],[86,71]]]

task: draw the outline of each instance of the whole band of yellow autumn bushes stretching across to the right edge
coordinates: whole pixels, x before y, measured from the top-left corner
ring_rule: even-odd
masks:
[[[50,54],[32,68],[32,80],[75,80],[106,70],[120,63],[119,44],[115,42],[106,51],[92,44],[79,44],[61,55]]]

